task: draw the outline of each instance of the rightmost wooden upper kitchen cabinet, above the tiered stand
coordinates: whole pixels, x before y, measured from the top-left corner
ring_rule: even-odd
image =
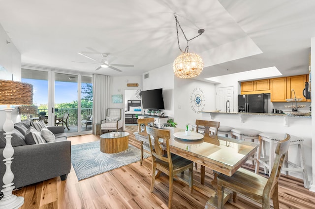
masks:
[[[305,82],[307,82],[307,75],[286,77],[286,98],[294,98],[294,93],[291,94],[291,90],[294,89],[296,98],[302,98],[301,102],[306,102],[303,96]]]

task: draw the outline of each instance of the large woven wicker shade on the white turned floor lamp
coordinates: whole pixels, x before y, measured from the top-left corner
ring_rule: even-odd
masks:
[[[14,80],[0,80],[0,104],[32,104],[33,86]]]

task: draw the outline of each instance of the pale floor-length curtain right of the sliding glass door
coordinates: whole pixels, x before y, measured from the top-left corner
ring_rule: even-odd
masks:
[[[109,76],[94,74],[93,76],[93,122],[100,123],[106,118],[109,95]]]

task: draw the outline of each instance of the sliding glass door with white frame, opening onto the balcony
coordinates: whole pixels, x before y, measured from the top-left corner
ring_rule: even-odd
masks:
[[[33,84],[36,113],[45,113],[47,125],[69,136],[92,133],[92,75],[22,69],[22,81]]]

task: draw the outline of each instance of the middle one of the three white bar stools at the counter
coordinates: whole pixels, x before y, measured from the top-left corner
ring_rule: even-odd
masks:
[[[252,142],[255,142],[255,139],[258,142],[259,133],[262,133],[261,131],[254,129],[232,129],[231,132],[232,138],[237,137],[239,140],[251,140]],[[265,156],[265,152],[263,152],[262,155]],[[252,160],[253,165],[256,161],[256,157],[252,156],[251,158],[249,158],[249,160]]]

